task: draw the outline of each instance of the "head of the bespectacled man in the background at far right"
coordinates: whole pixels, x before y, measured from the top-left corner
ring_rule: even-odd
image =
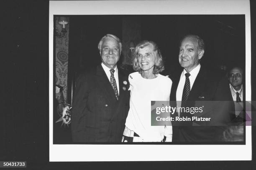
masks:
[[[233,87],[239,87],[243,82],[243,74],[242,70],[235,67],[229,72],[228,80]]]

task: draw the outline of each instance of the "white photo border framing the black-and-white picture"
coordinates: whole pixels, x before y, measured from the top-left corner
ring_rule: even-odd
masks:
[[[54,15],[245,15],[246,101],[251,101],[249,0],[109,0],[49,2],[49,161],[252,160],[251,126],[246,145],[53,145]],[[185,154],[184,154],[185,153]]]

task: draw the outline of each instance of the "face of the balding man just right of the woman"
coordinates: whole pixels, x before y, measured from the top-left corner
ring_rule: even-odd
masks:
[[[186,37],[182,40],[179,47],[179,64],[184,67],[187,72],[193,70],[202,58],[204,50],[198,49],[197,39],[194,37]]]

